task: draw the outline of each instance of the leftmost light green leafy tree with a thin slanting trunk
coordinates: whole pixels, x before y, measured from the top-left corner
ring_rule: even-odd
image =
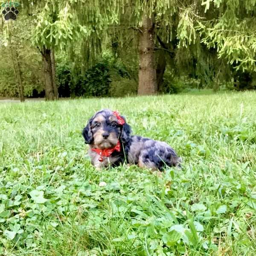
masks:
[[[0,25],[0,94],[23,101],[33,91],[42,90],[40,55],[29,40],[33,22],[20,12],[17,20],[3,20]]]

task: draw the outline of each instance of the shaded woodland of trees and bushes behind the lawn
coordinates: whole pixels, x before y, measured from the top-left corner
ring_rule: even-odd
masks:
[[[0,21],[0,96],[255,89],[255,2],[23,1]]]

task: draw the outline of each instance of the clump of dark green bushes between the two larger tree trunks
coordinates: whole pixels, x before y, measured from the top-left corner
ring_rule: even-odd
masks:
[[[56,77],[60,97],[124,96],[137,93],[137,84],[130,79],[125,65],[121,61],[114,61],[109,54],[103,55],[84,76],[72,74],[70,65],[60,59]]]

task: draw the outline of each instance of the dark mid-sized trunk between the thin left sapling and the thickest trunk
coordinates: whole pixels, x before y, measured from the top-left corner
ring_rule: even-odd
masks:
[[[52,61],[51,50],[43,47],[42,56],[44,60],[44,86],[45,86],[45,98],[46,100],[54,99],[54,90],[52,86]]]

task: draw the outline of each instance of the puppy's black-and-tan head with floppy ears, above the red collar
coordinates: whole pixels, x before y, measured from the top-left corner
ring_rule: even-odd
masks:
[[[124,121],[125,118],[120,116]],[[87,123],[83,130],[85,143],[93,145],[95,148],[113,148],[118,140],[126,143],[131,134],[131,127],[125,121],[119,124],[118,117],[113,111],[104,109],[98,111]]]

